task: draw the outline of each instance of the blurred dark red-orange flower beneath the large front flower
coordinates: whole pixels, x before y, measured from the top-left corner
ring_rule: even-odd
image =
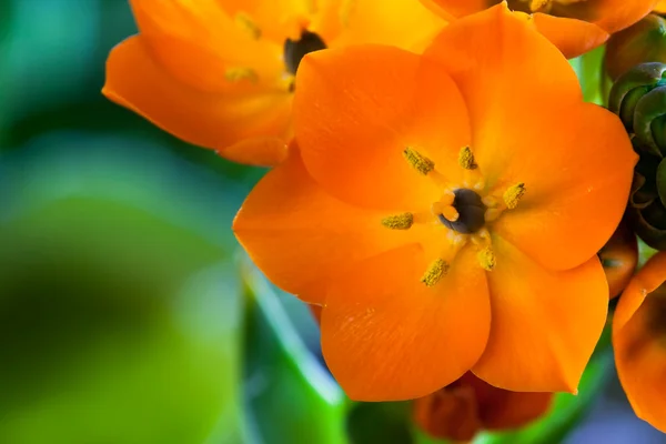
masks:
[[[472,373],[414,401],[414,421],[428,435],[468,442],[483,431],[519,428],[543,416],[552,393],[522,393],[496,389]]]

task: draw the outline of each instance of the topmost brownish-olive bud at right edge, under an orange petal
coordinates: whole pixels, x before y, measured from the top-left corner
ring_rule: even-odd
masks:
[[[633,67],[646,62],[666,63],[666,20],[654,13],[610,37],[604,65],[615,81]]]

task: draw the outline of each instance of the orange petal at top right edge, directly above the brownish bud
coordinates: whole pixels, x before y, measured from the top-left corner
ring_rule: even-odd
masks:
[[[596,17],[589,21],[614,33],[643,19],[657,3],[657,0],[596,0],[591,2]]]

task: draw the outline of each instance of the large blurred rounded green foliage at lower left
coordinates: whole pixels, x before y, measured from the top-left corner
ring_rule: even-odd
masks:
[[[0,442],[242,442],[230,185],[119,137],[0,155]]]

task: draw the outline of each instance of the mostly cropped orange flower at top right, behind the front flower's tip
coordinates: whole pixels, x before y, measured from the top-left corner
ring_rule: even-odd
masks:
[[[501,0],[421,0],[447,20],[478,12]],[[657,0],[506,0],[513,11],[529,13],[541,33],[567,57],[602,46],[647,16]]]

